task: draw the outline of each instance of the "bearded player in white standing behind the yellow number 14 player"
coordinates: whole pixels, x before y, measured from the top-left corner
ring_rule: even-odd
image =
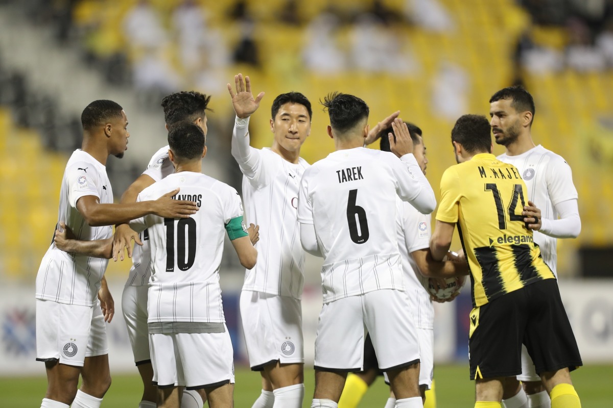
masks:
[[[530,198],[525,210],[541,221],[532,226],[535,243],[557,275],[557,239],[576,238],[581,232],[578,196],[571,168],[564,158],[533,142],[530,129],[534,115],[532,95],[522,87],[501,89],[490,98],[492,133],[496,143],[505,149],[498,159],[519,169]],[[507,408],[550,407],[549,395],[525,347],[522,374],[517,380],[524,384],[523,390],[518,381],[506,380],[503,402]]]

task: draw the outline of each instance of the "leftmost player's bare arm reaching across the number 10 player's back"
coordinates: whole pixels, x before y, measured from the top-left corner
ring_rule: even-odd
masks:
[[[89,226],[104,226],[127,223],[144,215],[155,214],[162,218],[189,218],[198,207],[193,201],[175,200],[179,188],[156,200],[129,204],[101,204],[93,195],[82,196],[77,201],[77,210]]]

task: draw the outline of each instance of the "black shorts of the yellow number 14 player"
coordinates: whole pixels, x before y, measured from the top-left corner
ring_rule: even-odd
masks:
[[[471,379],[520,374],[522,343],[538,374],[582,365],[555,279],[529,284],[471,311]]]

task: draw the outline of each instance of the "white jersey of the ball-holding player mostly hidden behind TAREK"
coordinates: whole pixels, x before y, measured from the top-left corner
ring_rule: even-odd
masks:
[[[408,202],[396,200],[398,250],[402,259],[405,291],[417,328],[434,328],[434,306],[427,291],[428,278],[422,276],[411,253],[430,248],[430,215],[422,214]]]

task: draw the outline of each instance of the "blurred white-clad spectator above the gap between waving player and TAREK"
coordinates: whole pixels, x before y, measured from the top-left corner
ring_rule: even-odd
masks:
[[[338,45],[340,20],[332,13],[321,13],[308,24],[303,35],[302,57],[308,70],[337,73],[346,69],[346,55]]]

